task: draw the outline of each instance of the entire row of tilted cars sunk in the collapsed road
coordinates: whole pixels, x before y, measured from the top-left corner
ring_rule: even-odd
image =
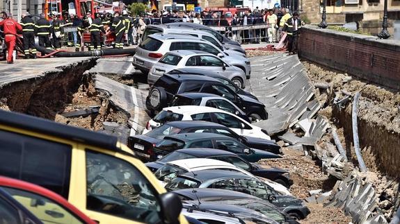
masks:
[[[179,195],[189,223],[297,223],[310,210],[291,196],[289,173],[256,163],[279,159],[282,150],[252,124],[268,112],[243,90],[250,62],[205,30],[145,29],[133,63],[148,73],[152,118],[128,146]]]

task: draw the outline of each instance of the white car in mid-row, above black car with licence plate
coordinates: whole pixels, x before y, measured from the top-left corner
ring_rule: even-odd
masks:
[[[147,122],[145,130],[143,130],[143,135],[152,130],[152,128],[157,128],[168,121],[210,121],[222,124],[238,135],[271,140],[271,137],[266,134],[266,130],[253,126],[235,114],[214,107],[195,105],[163,108],[159,114]]]

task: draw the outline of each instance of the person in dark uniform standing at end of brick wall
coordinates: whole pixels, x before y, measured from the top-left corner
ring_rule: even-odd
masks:
[[[287,19],[285,26],[283,26],[283,32],[287,33],[288,50],[289,54],[297,53],[297,41],[298,33],[301,28],[301,19],[298,18],[298,13],[294,12],[293,17]]]

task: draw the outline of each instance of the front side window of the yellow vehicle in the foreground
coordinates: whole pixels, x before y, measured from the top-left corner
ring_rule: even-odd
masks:
[[[86,207],[144,223],[161,223],[158,193],[136,167],[86,150]]]

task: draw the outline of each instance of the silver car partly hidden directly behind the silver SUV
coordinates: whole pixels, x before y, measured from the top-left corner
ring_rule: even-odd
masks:
[[[211,44],[218,46],[219,49],[225,51],[226,53],[246,54],[246,51],[241,46],[229,43],[221,43],[221,41],[218,40],[218,38],[215,37],[212,33],[209,33],[205,30],[200,30],[198,28],[193,28],[189,26],[170,26],[170,24],[148,25],[143,32],[142,41],[146,40],[148,35],[154,33],[193,35],[200,39],[211,42]]]

